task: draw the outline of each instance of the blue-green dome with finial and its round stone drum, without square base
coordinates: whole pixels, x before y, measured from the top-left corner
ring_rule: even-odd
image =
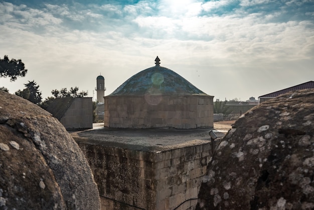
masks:
[[[133,75],[104,97],[108,128],[213,127],[213,97],[176,72],[156,65]]]

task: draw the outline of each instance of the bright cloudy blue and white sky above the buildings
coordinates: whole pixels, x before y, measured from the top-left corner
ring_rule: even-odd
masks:
[[[312,0],[0,1],[0,57],[22,59],[43,98],[105,95],[141,70],[177,72],[215,99],[247,100],[314,80]]]

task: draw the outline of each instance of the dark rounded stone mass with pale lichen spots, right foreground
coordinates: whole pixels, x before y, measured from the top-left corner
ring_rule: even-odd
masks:
[[[221,139],[197,209],[314,209],[314,89],[248,111]]]

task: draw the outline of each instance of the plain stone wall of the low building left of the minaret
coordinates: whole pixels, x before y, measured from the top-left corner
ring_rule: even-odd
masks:
[[[93,102],[91,97],[74,98],[60,122],[66,129],[93,128]]]

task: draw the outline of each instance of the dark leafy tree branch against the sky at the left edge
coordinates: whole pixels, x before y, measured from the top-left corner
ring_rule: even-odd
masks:
[[[10,77],[11,81],[15,81],[18,76],[25,76],[27,69],[21,59],[9,60],[8,55],[4,59],[0,58],[0,77]]]

